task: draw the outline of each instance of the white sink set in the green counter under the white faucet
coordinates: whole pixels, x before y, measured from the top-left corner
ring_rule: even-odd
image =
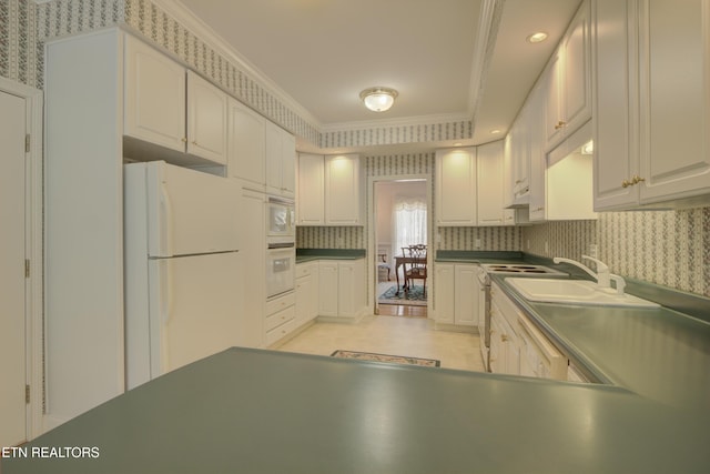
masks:
[[[617,294],[612,289],[601,290],[596,282],[586,280],[507,278],[506,283],[529,301],[596,306],[659,306],[631,294]]]

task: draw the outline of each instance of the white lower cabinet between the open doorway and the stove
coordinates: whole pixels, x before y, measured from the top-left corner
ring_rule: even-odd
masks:
[[[475,326],[478,324],[479,265],[437,263],[434,279],[436,322]]]

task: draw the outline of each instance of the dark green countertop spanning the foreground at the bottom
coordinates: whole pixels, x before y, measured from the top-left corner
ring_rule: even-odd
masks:
[[[232,349],[26,445],[20,473],[707,473],[709,426],[610,385]]]

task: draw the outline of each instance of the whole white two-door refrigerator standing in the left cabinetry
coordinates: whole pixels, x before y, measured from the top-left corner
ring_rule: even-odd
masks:
[[[128,389],[235,345],[239,202],[224,178],[124,165]]]

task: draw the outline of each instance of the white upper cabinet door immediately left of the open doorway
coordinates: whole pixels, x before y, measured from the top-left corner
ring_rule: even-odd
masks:
[[[359,157],[342,154],[325,158],[325,223],[362,223]]]

